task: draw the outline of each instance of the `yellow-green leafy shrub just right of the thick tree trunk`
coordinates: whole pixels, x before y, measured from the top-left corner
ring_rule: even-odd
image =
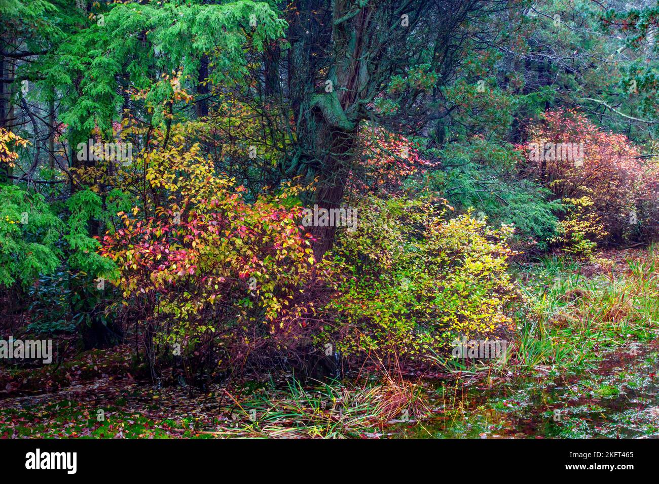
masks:
[[[339,234],[335,254],[347,277],[322,337],[344,356],[424,360],[462,336],[491,338],[511,326],[512,227],[492,229],[471,212],[449,219],[446,207],[369,198],[357,230]]]

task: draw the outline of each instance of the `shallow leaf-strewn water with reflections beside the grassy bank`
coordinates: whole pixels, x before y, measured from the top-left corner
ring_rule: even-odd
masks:
[[[657,374],[657,375],[656,375]],[[434,416],[390,436],[438,439],[659,437],[659,352],[611,354],[598,369],[496,388],[430,382]]]

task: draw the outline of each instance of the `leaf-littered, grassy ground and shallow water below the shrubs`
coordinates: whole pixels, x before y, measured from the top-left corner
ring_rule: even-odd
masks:
[[[513,269],[523,302],[505,360],[405,383],[279,374],[191,392],[134,377],[121,345],[0,370],[0,437],[659,437],[654,252]]]

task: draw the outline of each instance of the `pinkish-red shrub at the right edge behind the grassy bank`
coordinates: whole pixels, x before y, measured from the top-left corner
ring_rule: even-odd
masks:
[[[568,204],[583,197],[592,201],[600,224],[592,227],[595,232],[619,241],[648,221],[658,166],[645,161],[622,134],[600,130],[577,111],[558,109],[531,124],[527,143],[518,148],[526,154],[526,175],[552,190],[554,198]]]

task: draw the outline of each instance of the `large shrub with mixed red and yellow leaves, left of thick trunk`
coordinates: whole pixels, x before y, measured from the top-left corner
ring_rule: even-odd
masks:
[[[304,342],[329,272],[300,226],[296,190],[247,203],[197,145],[144,158],[147,208],[119,213],[100,253],[117,265],[112,280],[144,325],[147,353],[235,367]]]

